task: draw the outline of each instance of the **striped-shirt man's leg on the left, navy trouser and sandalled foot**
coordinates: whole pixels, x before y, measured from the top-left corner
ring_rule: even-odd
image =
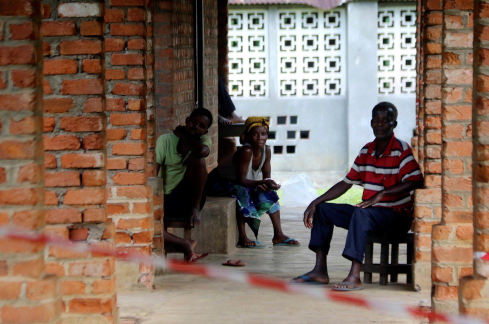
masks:
[[[290,282],[329,282],[326,256],[329,252],[333,228],[334,226],[348,228],[353,208],[349,204],[329,202],[316,206],[309,240],[309,249],[316,254],[314,267],[309,272],[293,278]]]

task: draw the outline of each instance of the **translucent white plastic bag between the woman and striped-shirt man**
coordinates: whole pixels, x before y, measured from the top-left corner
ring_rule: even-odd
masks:
[[[303,173],[285,180],[280,189],[282,189],[280,204],[286,207],[307,206],[317,197],[311,179]]]

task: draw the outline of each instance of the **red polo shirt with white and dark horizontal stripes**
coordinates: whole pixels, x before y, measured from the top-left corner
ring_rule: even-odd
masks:
[[[375,157],[376,140],[363,146],[356,156],[353,166],[343,181],[363,186],[362,200],[365,201],[377,191],[405,181],[422,181],[411,147],[392,134],[385,151]],[[414,191],[398,195],[386,195],[374,206],[395,209],[398,212],[412,214]]]

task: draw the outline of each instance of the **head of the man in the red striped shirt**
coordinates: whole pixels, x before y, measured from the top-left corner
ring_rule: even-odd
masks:
[[[370,126],[377,140],[390,139],[397,126],[397,108],[387,101],[377,103],[372,109]]]

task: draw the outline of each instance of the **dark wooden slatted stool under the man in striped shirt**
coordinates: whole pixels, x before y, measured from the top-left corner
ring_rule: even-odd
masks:
[[[412,254],[414,251],[413,233],[388,236],[370,234],[367,237],[365,247],[365,260],[361,266],[363,271],[363,282],[372,282],[372,273],[379,273],[381,285],[387,284],[387,275],[390,274],[390,282],[397,282],[397,274],[406,274],[406,283],[412,283]],[[380,263],[372,263],[373,260],[373,243],[380,244]],[[405,264],[399,264],[399,244],[407,245],[407,258]],[[390,263],[389,263],[389,245]]]

